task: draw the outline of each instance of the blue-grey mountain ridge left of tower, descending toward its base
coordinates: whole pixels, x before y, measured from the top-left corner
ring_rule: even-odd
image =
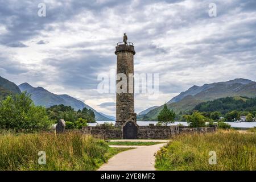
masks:
[[[48,90],[42,88],[42,87],[33,87],[28,83],[23,83],[19,85],[19,89],[23,91],[27,91],[31,94],[31,98],[34,101],[35,105],[45,106],[45,107],[51,107],[54,105],[66,105],[71,106],[75,110],[82,110],[84,107],[87,109],[92,109],[94,111],[96,121],[110,121],[111,119],[108,117],[105,117],[101,113],[98,113],[96,110],[94,110],[92,107],[84,104],[84,102],[77,100],[76,98],[73,98],[71,96],[68,96],[66,94],[63,95],[57,95],[54,93],[49,92]]]

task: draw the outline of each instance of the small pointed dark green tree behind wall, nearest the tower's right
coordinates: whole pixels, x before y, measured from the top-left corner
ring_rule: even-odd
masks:
[[[163,109],[158,115],[158,122],[168,125],[168,123],[174,123],[175,113],[173,110],[168,109],[167,104],[164,104]]]

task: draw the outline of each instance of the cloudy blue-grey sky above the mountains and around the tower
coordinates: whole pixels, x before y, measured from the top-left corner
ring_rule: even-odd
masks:
[[[193,85],[256,80],[255,0],[0,0],[0,76],[114,115],[115,94],[98,93],[97,76],[115,69],[123,32],[135,45],[135,73],[159,73],[158,100],[136,94],[137,112]]]

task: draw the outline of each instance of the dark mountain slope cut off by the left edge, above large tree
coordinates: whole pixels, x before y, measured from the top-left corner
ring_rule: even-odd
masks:
[[[20,94],[20,89],[13,82],[0,76],[0,101],[11,94]]]

